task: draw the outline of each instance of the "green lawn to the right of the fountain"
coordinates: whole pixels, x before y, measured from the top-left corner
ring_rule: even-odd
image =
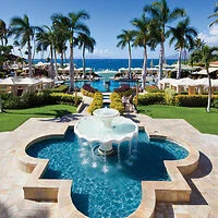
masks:
[[[140,113],[152,118],[184,119],[202,133],[218,135],[218,109],[211,109],[209,113],[205,108],[186,108],[175,106],[141,106]]]

